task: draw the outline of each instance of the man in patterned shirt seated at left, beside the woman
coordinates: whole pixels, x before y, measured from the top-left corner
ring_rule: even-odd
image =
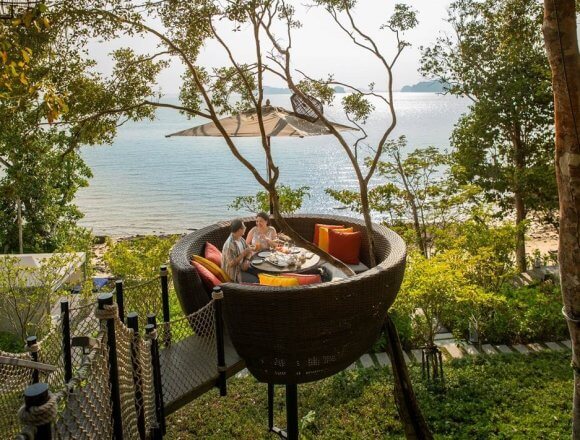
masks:
[[[236,283],[257,283],[258,277],[251,270],[250,257],[253,249],[243,239],[246,226],[240,219],[232,221],[231,233],[222,249],[222,269]]]

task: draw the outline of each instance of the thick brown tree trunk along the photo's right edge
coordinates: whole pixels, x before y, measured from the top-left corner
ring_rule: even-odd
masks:
[[[574,0],[544,0],[544,41],[554,89],[558,259],[574,366],[573,438],[580,439],[580,55]]]

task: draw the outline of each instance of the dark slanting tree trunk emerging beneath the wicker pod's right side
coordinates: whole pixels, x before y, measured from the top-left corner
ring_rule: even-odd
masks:
[[[432,439],[433,435],[429,431],[427,422],[423,417],[421,408],[417,403],[417,397],[413,391],[413,384],[409,377],[407,364],[403,356],[401,341],[397,334],[397,328],[387,314],[384,325],[385,336],[387,337],[387,352],[393,368],[395,382],[395,402],[397,411],[403,422],[405,437],[408,439]]]

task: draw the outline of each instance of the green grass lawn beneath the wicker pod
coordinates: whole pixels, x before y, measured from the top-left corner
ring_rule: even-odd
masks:
[[[439,439],[559,439],[571,436],[570,353],[496,355],[445,364],[445,390],[411,375],[421,408]],[[303,439],[404,438],[389,369],[342,372],[298,388]],[[284,426],[283,387],[276,424]],[[229,381],[168,418],[167,439],[275,439],[267,432],[266,385]]]

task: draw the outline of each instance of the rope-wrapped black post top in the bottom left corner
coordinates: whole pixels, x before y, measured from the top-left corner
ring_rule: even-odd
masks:
[[[54,399],[45,383],[35,383],[24,390],[24,407],[18,415],[23,425],[35,428],[34,440],[52,439],[51,425],[57,414]]]

